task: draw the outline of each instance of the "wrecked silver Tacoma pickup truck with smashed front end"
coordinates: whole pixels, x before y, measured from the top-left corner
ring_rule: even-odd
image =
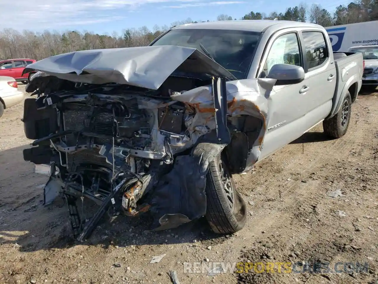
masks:
[[[335,138],[347,131],[363,59],[344,55],[318,25],[243,20],[52,56],[24,71],[39,71],[26,87],[37,99],[25,100],[24,159],[50,176],[45,204],[67,200],[76,240],[105,212],[149,211],[155,230],[206,216],[232,233],[246,221],[232,174],[319,122]],[[84,220],[87,199],[100,208]]]

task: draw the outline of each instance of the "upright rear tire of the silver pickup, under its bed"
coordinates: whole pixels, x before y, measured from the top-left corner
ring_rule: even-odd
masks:
[[[340,138],[347,133],[350,115],[352,114],[352,98],[349,91],[341,103],[339,112],[330,119],[323,120],[324,133],[332,138]]]

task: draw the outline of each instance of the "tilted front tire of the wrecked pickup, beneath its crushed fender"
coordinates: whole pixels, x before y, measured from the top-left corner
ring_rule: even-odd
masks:
[[[218,234],[235,233],[246,222],[246,204],[220,155],[210,163],[206,175],[206,219]]]

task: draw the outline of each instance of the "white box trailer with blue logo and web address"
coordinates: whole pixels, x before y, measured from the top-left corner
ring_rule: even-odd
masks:
[[[355,45],[378,44],[378,21],[326,27],[333,51],[347,51]]]

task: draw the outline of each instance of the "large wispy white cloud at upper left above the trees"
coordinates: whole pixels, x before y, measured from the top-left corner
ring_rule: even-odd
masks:
[[[0,11],[8,11],[2,13],[0,30],[3,28],[17,30],[76,28],[78,25],[123,19],[127,12],[152,3],[172,7],[175,3],[180,3],[180,5],[193,3],[193,5],[203,6],[203,3],[198,1],[200,0],[0,0]],[[211,3],[222,2],[209,2],[208,5],[217,5]]]

